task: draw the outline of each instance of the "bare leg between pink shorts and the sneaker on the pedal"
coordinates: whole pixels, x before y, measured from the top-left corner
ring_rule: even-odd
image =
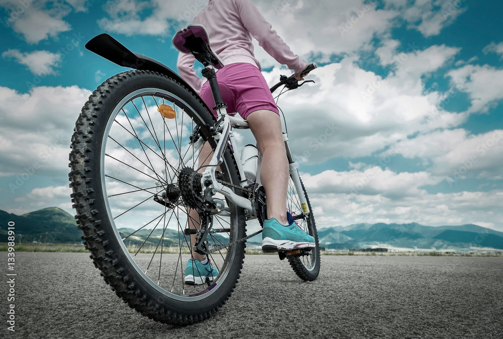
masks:
[[[286,224],[289,169],[280,117],[272,110],[262,109],[251,112],[246,120],[262,153],[260,180],[266,190],[267,218]]]

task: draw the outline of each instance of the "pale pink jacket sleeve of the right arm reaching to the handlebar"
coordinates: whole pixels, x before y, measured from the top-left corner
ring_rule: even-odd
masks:
[[[234,1],[244,27],[257,39],[259,45],[269,55],[279,63],[287,65],[288,68],[294,70],[296,73],[306,68],[302,59],[290,50],[290,47],[272,29],[271,24],[264,19],[251,0]]]

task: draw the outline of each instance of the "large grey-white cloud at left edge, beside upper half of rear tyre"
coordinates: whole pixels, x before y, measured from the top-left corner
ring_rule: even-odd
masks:
[[[4,118],[0,176],[20,175],[38,162],[35,175],[66,179],[70,137],[90,94],[77,86],[34,87],[25,94],[0,87],[0,116]]]

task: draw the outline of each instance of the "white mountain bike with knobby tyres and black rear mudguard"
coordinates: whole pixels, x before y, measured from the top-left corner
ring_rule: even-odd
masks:
[[[267,201],[257,148],[247,145],[237,158],[233,130],[248,125],[227,115],[219,98],[214,67],[222,64],[204,28],[189,26],[174,43],[204,65],[219,118],[178,74],[107,34],[96,36],[88,50],[134,70],[107,79],[83,106],[71,139],[69,180],[83,243],[106,283],[153,320],[189,324],[209,317],[230,297],[246,240],[262,231],[246,235],[246,221],[259,219],[262,225]],[[280,80],[273,92],[305,83],[293,76]],[[288,210],[316,246],[279,256],[301,279],[312,281],[320,267],[316,225],[287,133],[283,136],[290,163]],[[199,173],[206,144],[214,153]],[[192,209],[200,216],[199,230],[189,227]],[[184,281],[191,235],[192,251],[208,255],[219,272],[201,285]]]

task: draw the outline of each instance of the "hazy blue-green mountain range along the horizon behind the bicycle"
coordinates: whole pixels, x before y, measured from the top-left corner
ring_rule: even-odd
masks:
[[[73,216],[57,207],[40,209],[23,215],[0,210],[0,224],[16,223],[16,240],[19,242],[80,243],[80,230]],[[134,230],[119,229],[121,235],[130,235]],[[2,238],[7,227],[0,228]],[[150,237],[149,237],[150,235]],[[128,237],[127,245],[142,244],[155,246],[162,230],[140,230]],[[216,242],[225,243],[225,238],[214,235]],[[164,246],[176,246],[184,236],[167,229]],[[330,250],[363,249],[381,247],[397,250],[503,250],[503,232],[494,231],[474,224],[460,226],[425,226],[418,223],[386,224],[358,223],[346,227],[338,226],[318,230],[320,246]],[[261,235],[248,240],[249,246],[260,245]],[[0,242],[3,242],[0,240]]]

